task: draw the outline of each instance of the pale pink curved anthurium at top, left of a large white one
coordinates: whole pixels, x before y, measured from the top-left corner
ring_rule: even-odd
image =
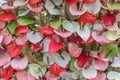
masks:
[[[86,12],[86,9],[84,9],[84,8],[82,8],[81,10],[78,10],[76,4],[71,5],[69,10],[70,10],[70,13],[72,15],[82,15],[82,14],[84,14]]]

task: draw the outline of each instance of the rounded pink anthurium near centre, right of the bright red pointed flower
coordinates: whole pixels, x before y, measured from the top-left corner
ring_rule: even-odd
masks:
[[[79,48],[75,43],[69,43],[68,51],[72,57],[79,57],[79,55],[82,53],[82,48]]]

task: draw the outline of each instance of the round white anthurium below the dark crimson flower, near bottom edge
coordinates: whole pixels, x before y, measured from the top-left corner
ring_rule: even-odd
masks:
[[[90,66],[87,69],[83,68],[82,75],[87,79],[93,79],[97,76],[97,70],[93,66]]]

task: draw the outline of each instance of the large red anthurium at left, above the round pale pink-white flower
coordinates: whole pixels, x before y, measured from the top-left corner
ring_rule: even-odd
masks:
[[[22,46],[16,45],[16,44],[10,44],[7,47],[7,52],[11,57],[16,57],[20,55],[20,50],[22,49]]]

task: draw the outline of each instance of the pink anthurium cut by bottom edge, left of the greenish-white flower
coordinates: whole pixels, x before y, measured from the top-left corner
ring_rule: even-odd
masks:
[[[35,78],[26,71],[18,71],[16,77],[18,80],[35,80]]]

